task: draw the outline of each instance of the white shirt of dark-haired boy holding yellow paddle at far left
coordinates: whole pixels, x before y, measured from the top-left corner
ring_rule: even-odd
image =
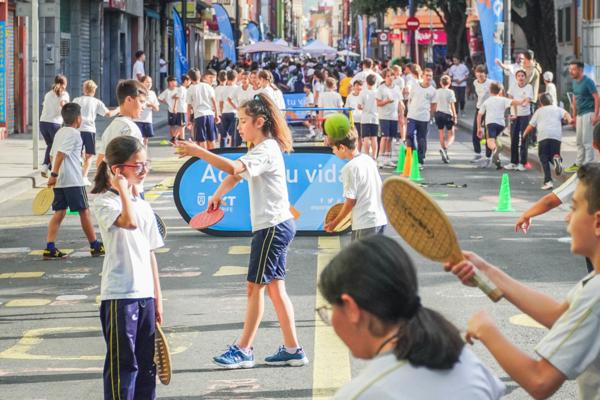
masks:
[[[56,163],[56,154],[64,153],[65,157],[58,169],[55,188],[82,187],[83,175],[81,174],[81,149],[83,141],[81,134],[73,127],[62,127],[54,136],[50,155]]]

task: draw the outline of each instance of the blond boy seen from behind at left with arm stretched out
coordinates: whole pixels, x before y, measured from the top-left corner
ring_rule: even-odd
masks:
[[[107,118],[113,117],[119,113],[119,107],[109,110],[102,100],[95,98],[98,85],[93,80],[83,82],[83,96],[73,99],[73,103],[81,106],[81,140],[85,151],[85,160],[83,161],[83,184],[91,186],[92,182],[88,179],[89,169],[92,166],[92,156],[96,154],[96,116],[102,115]]]

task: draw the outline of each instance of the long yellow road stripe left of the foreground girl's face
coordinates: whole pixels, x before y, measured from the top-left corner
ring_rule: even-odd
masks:
[[[330,251],[317,254],[317,279],[339,251],[340,237],[319,237],[319,248]],[[317,290],[316,307],[326,304]],[[313,399],[332,399],[337,389],[350,380],[350,352],[333,327],[323,323],[317,312],[314,318]]]

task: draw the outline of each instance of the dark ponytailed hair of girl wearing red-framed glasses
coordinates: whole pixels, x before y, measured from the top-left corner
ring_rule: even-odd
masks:
[[[133,136],[118,136],[106,145],[104,160],[98,166],[94,176],[93,194],[101,194],[110,189],[110,168],[127,163],[132,155],[144,149],[142,142]]]

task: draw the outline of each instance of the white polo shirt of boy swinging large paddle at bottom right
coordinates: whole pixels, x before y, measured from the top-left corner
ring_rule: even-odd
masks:
[[[566,296],[569,308],[535,348],[568,379],[576,379],[581,400],[600,393],[600,275],[590,272]]]

